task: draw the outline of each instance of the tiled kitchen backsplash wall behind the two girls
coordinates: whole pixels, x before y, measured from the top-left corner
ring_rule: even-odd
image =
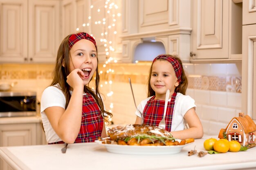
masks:
[[[133,124],[135,106],[128,83],[131,78],[136,104],[147,96],[150,62],[99,64],[101,92],[114,124]],[[51,82],[54,64],[0,64],[0,83],[17,82],[13,91],[36,91],[38,101]],[[218,135],[241,111],[241,64],[184,64],[189,76],[187,95],[195,99],[196,112],[206,135]],[[106,73],[108,71],[109,73]]]

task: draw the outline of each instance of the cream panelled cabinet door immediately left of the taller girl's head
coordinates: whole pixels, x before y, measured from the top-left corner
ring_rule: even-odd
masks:
[[[60,44],[60,2],[29,2],[29,62],[55,62]]]

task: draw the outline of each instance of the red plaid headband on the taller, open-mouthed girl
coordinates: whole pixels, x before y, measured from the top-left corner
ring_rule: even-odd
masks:
[[[70,38],[68,39],[69,48],[71,49],[72,46],[74,44],[76,44],[76,42],[78,42],[79,40],[82,40],[82,39],[91,41],[94,44],[94,46],[96,47],[96,50],[97,50],[96,41],[94,40],[94,38],[91,35],[89,35],[88,33],[83,33],[83,32],[82,33],[77,33],[77,34],[72,34],[70,36]]]

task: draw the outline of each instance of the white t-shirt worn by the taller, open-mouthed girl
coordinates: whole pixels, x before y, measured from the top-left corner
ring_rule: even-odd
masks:
[[[56,85],[45,88],[41,97],[40,113],[42,117],[43,127],[45,129],[46,141],[48,143],[62,141],[60,137],[53,130],[47,116],[45,109],[52,106],[59,106],[65,109],[66,98],[61,89]]]

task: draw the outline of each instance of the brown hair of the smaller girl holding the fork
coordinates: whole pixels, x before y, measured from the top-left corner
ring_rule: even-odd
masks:
[[[183,65],[182,65],[182,61],[180,60],[180,57],[178,57],[177,55],[166,55],[166,56],[173,57],[180,63],[180,66],[182,68],[181,82],[179,83],[179,86],[177,86],[175,88],[175,92],[182,93],[183,95],[186,95],[186,88],[188,87],[189,82],[188,82],[188,78],[186,77],[186,73],[183,69]],[[164,60],[164,59],[159,58],[157,60]],[[150,79],[151,79],[151,75],[152,75],[153,64],[154,63],[151,64],[151,67],[149,70],[149,76],[148,76],[148,97],[155,95],[155,91],[153,91],[153,88],[150,86]]]

